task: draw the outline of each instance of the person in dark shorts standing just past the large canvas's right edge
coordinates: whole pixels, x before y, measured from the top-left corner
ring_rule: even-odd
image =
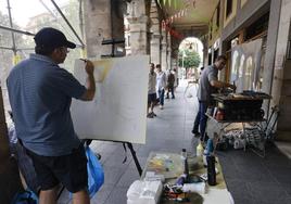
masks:
[[[148,109],[147,109],[147,117],[149,118],[153,118],[156,116],[155,113],[153,112],[154,105],[156,103],[155,86],[156,86],[156,74],[154,73],[154,64],[151,63],[149,73]]]

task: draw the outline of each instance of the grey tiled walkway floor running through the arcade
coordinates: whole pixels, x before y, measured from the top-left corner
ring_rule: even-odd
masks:
[[[197,99],[187,98],[184,86],[177,88],[176,99],[166,100],[164,110],[155,110],[156,118],[148,119],[147,143],[134,145],[143,167],[151,151],[180,152],[186,148],[194,152],[198,143],[191,128],[197,113]],[[191,89],[195,95],[195,89]],[[105,182],[91,199],[92,204],[126,204],[130,183],[139,179],[132,157],[123,164],[124,150],[121,143],[96,141],[93,151],[102,155]],[[253,152],[229,150],[218,152],[225,180],[236,204],[291,204],[291,161],[277,148],[269,145],[267,155],[261,158]],[[65,191],[60,204],[69,203]]]

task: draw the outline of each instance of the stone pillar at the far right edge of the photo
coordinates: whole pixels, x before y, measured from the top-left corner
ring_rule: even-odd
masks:
[[[290,52],[290,50],[288,50],[288,42],[291,40],[291,1],[282,0],[280,10],[281,12],[278,12],[280,14],[280,21],[278,24],[279,27],[276,29],[276,31],[278,31],[278,38],[276,43],[276,52],[274,53],[275,69],[273,75],[273,84],[270,84],[273,97],[270,106],[279,105],[280,110],[276,139],[291,142],[291,126],[289,125],[291,118],[291,59],[288,56],[288,52]]]

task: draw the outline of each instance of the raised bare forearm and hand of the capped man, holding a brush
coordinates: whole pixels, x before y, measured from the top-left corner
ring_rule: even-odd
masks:
[[[96,82],[94,82],[94,65],[91,61],[86,61],[86,73],[87,73],[87,79],[86,79],[86,91],[81,95],[83,101],[92,101],[94,98],[96,92]]]

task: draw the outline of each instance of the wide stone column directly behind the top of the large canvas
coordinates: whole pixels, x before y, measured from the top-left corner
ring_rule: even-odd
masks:
[[[88,58],[99,59],[102,54],[112,53],[112,44],[102,46],[102,40],[124,39],[124,12],[126,3],[123,0],[84,1],[86,44]],[[115,44],[116,48],[125,46]]]

